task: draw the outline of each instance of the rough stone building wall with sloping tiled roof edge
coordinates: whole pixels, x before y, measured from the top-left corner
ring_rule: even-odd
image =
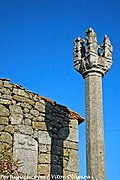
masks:
[[[48,179],[59,175],[64,180],[78,176],[82,122],[67,107],[0,79],[0,148],[12,144],[8,153],[20,160],[19,171],[25,175]]]

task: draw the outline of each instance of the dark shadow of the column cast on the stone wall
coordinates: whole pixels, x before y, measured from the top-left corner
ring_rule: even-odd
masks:
[[[45,122],[51,138],[50,179],[63,179],[63,143],[69,135],[69,110],[64,106],[46,104]]]

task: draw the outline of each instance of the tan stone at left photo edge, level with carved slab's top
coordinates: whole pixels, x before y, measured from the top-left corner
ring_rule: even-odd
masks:
[[[12,136],[8,132],[1,132],[0,133],[0,141],[11,144],[12,143]]]

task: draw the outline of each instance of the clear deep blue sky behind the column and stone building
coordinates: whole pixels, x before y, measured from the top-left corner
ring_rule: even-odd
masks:
[[[120,1],[0,0],[0,77],[85,117],[84,80],[73,68],[73,41],[92,27],[107,34],[113,66],[103,78],[107,180],[120,179]],[[85,123],[79,127],[85,175]]]

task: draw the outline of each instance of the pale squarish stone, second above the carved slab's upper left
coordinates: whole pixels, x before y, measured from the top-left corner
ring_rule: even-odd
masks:
[[[11,124],[21,124],[23,121],[22,114],[11,114],[10,115]]]

